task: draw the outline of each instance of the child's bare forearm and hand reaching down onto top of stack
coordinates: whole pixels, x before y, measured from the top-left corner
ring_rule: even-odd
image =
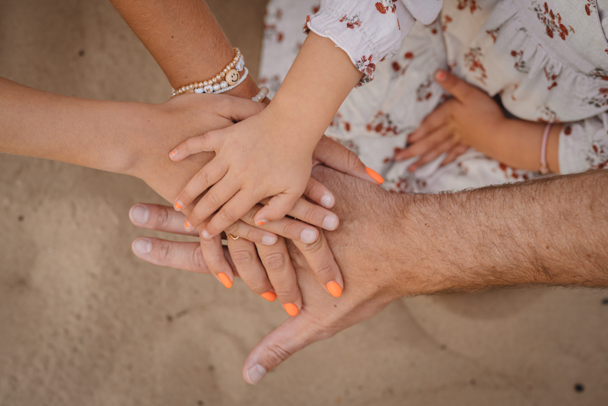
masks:
[[[185,208],[213,185],[188,215],[186,228],[223,206],[201,233],[212,238],[266,197],[272,198],[256,222],[282,219],[304,192],[319,139],[361,77],[333,41],[310,33],[262,114],[179,145],[170,155],[174,161],[200,151],[217,154],[176,199]]]

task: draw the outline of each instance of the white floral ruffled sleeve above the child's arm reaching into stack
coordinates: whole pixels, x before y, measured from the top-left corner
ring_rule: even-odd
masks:
[[[364,76],[374,79],[376,63],[396,54],[416,19],[432,23],[443,0],[321,0],[319,11],[306,16],[304,32],[330,38],[348,54]]]

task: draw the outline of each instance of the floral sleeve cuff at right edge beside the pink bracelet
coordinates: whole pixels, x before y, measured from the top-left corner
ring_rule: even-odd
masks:
[[[608,113],[569,122],[559,135],[559,172],[608,168]]]

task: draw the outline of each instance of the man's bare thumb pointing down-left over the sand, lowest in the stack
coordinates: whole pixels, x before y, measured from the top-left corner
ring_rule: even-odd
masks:
[[[252,349],[243,365],[245,382],[255,385],[295,352],[329,337],[327,334],[319,334],[319,327],[306,316],[302,312],[296,317],[288,318]]]

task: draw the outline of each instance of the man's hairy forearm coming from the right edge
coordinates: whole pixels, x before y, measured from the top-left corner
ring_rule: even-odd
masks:
[[[608,286],[608,172],[438,195],[404,195],[402,275],[420,292]],[[407,278],[402,279],[407,284]]]

